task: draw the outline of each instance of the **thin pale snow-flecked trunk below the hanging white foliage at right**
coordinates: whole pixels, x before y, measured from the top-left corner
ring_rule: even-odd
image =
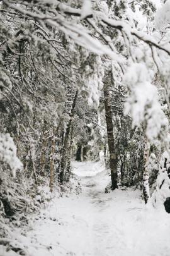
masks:
[[[144,193],[145,204],[147,204],[147,201],[148,201],[148,199],[150,197],[150,192],[149,192],[149,171],[148,171],[149,150],[150,150],[149,142],[147,142],[147,140],[145,140],[144,172],[143,172],[143,193]]]

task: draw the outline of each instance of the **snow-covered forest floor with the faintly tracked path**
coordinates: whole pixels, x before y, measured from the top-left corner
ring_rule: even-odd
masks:
[[[30,256],[169,256],[170,217],[146,208],[139,190],[105,193],[110,181],[100,162],[72,162],[82,193],[54,198],[16,229],[14,241]],[[16,256],[9,250],[0,255]]]

